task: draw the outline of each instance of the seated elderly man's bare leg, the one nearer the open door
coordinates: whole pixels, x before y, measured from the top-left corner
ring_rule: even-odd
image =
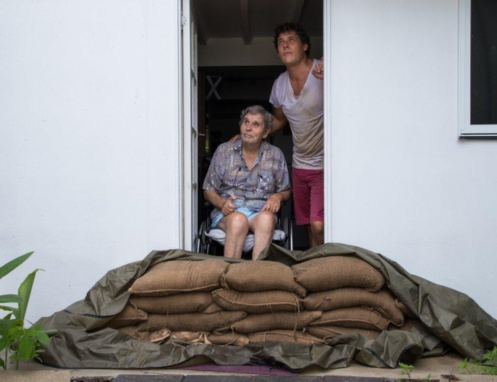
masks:
[[[240,212],[232,212],[219,221],[219,227],[226,232],[225,257],[240,259],[248,233],[247,217]]]

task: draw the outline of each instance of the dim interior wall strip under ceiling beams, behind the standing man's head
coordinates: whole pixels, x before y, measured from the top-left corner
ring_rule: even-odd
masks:
[[[323,54],[323,39],[311,37],[311,57]],[[254,37],[250,45],[242,38],[210,38],[199,45],[199,66],[281,65],[272,37]]]

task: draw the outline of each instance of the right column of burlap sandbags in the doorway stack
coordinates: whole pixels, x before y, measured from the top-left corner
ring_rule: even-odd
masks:
[[[313,259],[292,267],[296,281],[309,293],[308,311],[323,311],[307,327],[313,336],[327,340],[360,333],[376,338],[389,325],[401,326],[404,315],[377,269],[352,256]]]

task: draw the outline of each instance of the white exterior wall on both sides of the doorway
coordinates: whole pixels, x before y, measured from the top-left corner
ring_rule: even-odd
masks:
[[[175,3],[0,4],[0,263],[36,251],[0,294],[44,268],[31,320],[179,246]],[[333,240],[497,316],[497,141],[457,140],[457,2],[332,5]]]

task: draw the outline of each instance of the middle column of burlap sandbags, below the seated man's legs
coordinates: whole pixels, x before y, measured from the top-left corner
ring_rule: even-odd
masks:
[[[221,276],[221,285],[222,289],[212,292],[214,301],[227,311],[242,311],[247,316],[216,333],[245,335],[250,343],[322,342],[303,331],[323,313],[303,309],[307,291],[296,283],[290,267],[273,261],[231,264]]]

